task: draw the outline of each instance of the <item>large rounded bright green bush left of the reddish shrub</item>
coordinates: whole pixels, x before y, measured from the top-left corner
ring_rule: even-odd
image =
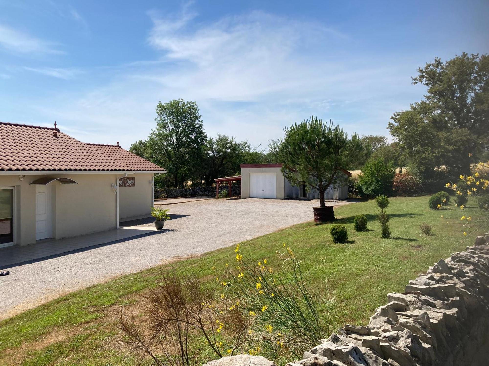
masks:
[[[392,163],[385,163],[382,159],[369,160],[362,168],[362,175],[358,177],[363,195],[372,198],[391,194],[395,173]]]

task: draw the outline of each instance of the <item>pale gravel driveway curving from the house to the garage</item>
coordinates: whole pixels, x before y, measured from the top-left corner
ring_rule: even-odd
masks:
[[[177,256],[202,254],[310,221],[315,205],[250,198],[164,206],[173,218],[165,224],[167,231],[9,268],[10,275],[0,277],[0,319]],[[132,224],[153,225],[150,220]]]

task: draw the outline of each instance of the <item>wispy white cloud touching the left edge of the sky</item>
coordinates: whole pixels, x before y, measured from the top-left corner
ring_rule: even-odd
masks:
[[[14,28],[0,24],[0,47],[11,52],[22,54],[61,54],[59,45],[35,38]]]

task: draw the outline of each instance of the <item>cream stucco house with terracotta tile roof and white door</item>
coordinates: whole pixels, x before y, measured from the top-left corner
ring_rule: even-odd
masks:
[[[165,169],[117,145],[0,122],[0,247],[66,238],[147,217]]]

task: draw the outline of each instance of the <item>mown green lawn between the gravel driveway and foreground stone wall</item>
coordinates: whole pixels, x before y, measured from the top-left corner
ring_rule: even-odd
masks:
[[[309,222],[244,242],[240,251],[272,258],[285,243],[308,264],[312,281],[326,284],[334,296],[331,329],[344,323],[366,324],[374,309],[385,304],[388,292],[402,291],[428,266],[473,243],[477,232],[462,234],[459,208],[450,205],[434,211],[427,202],[428,197],[391,199],[386,211],[391,215],[392,239],[379,238],[376,206],[369,201],[335,210],[335,224],[348,227],[347,244],[332,242],[331,224]],[[463,213],[470,212],[468,207]],[[354,231],[353,217],[359,213],[368,217],[370,231]],[[435,235],[423,235],[418,227],[422,223],[433,225]],[[234,247],[224,248],[174,265],[210,279],[213,266],[219,270],[234,256]],[[114,322],[120,305],[137,301],[132,293],[144,286],[141,274],[127,275],[0,322],[0,365],[139,364],[118,344]],[[211,356],[202,350],[196,365]]]

